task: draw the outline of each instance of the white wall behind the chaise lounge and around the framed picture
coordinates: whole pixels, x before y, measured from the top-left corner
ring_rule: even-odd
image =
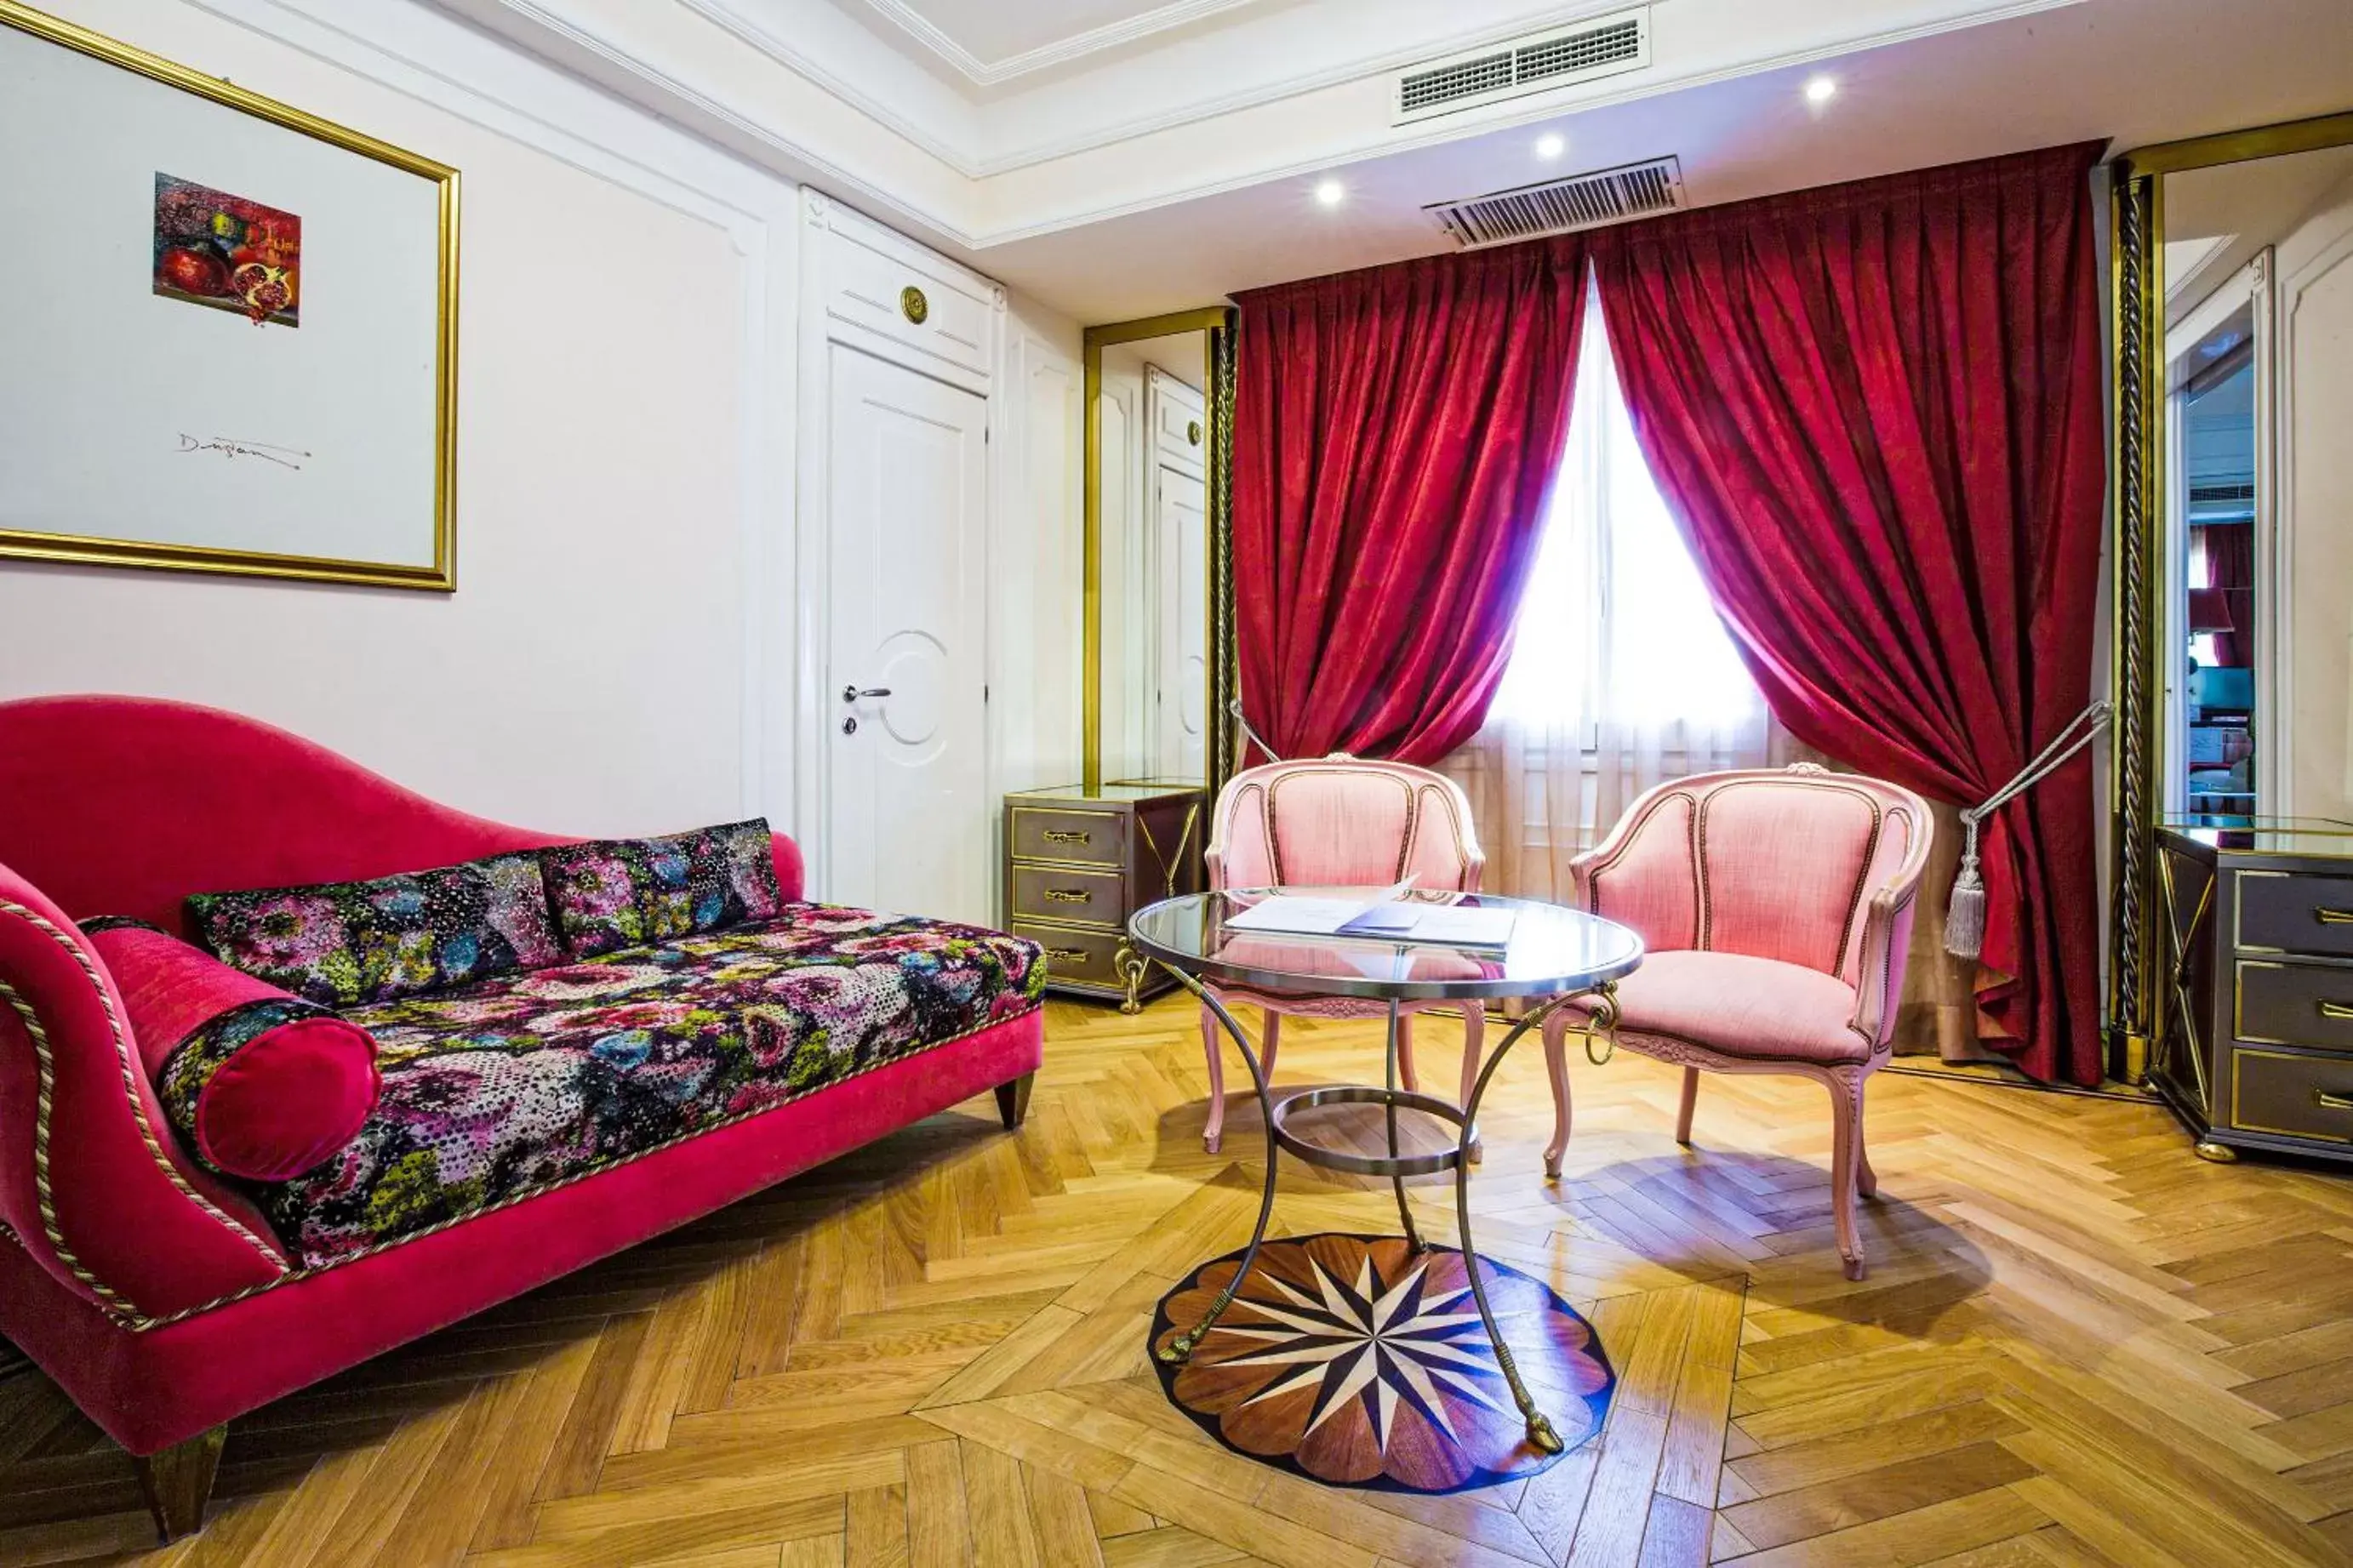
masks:
[[[798,188],[419,0],[47,9],[461,169],[459,590],[0,562],[0,696],[214,703],[548,830],[807,835]],[[1078,327],[1012,301],[1005,360],[1016,788],[1078,773]]]

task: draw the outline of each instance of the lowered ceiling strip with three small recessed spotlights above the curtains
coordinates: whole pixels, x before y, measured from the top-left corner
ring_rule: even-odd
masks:
[[[1661,7],[1664,9],[1664,7]],[[2266,26],[2249,28],[2249,9]],[[1802,85],[1838,96],[1819,113]],[[976,263],[1080,320],[1205,303],[1289,277],[1438,254],[1426,202],[1678,153],[1694,207],[2066,141],[2111,150],[2353,108],[2353,2],[2085,0],[1835,61],[1539,115],[1353,162],[1111,216],[979,252]],[[1534,155],[1558,129],[1569,153]],[[1348,186],[1313,202],[1322,176]]]

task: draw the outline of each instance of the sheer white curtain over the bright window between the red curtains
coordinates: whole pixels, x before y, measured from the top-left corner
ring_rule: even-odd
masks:
[[[1487,726],[1442,766],[1494,893],[1569,898],[1569,860],[1664,778],[1798,755],[1652,484],[1588,296],[1569,440]]]

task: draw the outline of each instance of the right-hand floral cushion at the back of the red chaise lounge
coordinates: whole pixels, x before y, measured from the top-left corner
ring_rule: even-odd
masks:
[[[541,849],[555,929],[574,959],[776,919],[767,818]]]

